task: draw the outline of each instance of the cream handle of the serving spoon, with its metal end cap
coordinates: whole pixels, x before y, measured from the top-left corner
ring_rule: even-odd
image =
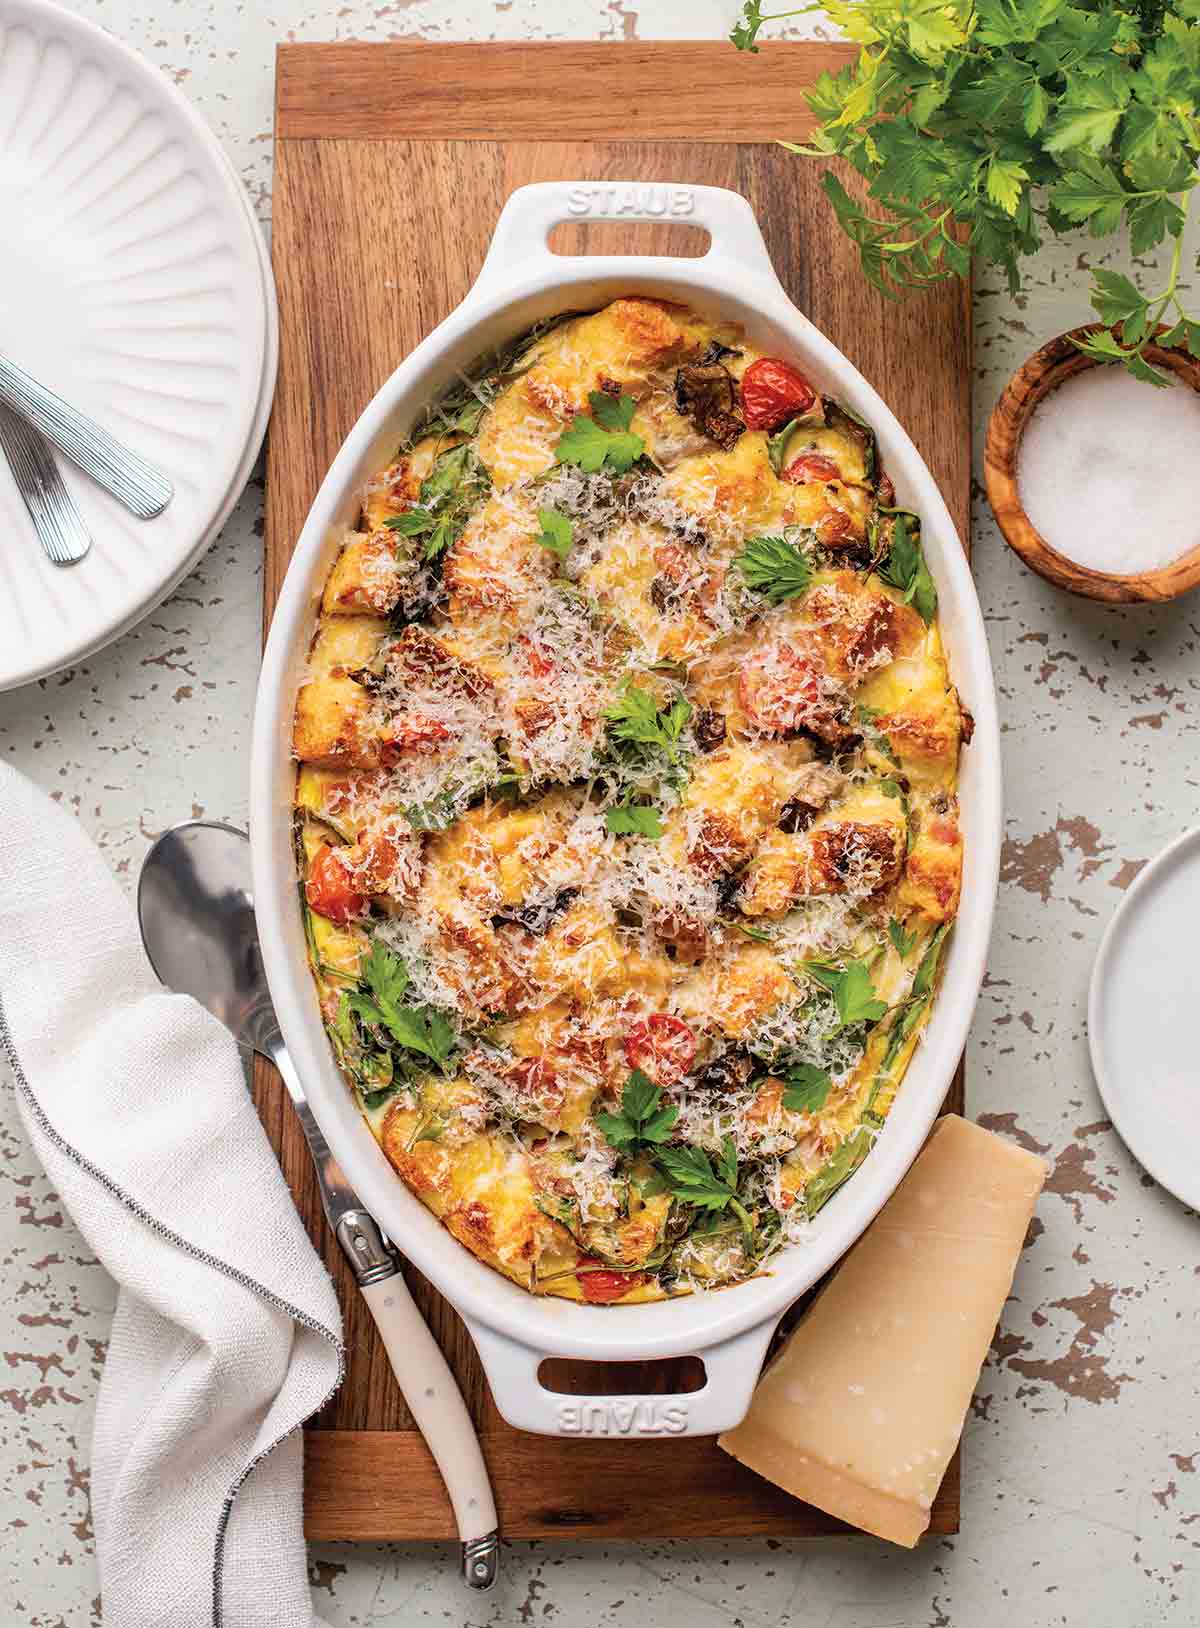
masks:
[[[368,1283],[361,1296],[409,1411],[446,1483],[462,1542],[464,1579],[472,1589],[487,1589],[497,1573],[497,1506],[462,1392],[399,1271]]]

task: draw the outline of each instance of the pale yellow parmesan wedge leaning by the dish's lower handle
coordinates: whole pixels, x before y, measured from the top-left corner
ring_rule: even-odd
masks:
[[[946,1115],[721,1447],[912,1548],[1000,1319],[1044,1159]]]

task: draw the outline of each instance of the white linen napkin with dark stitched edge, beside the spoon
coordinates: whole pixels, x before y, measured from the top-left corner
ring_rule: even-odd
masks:
[[[119,1286],[91,1503],[106,1628],[313,1628],[298,1426],[342,1324],[238,1047],[168,995],[83,829],[0,765],[0,1042]]]

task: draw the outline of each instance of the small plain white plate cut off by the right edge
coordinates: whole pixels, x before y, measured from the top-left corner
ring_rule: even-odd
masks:
[[[1101,939],[1088,1044],[1109,1118],[1156,1182],[1200,1210],[1200,830],[1138,876]]]

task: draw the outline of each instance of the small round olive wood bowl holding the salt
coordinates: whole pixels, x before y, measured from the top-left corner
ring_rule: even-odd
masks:
[[[1052,339],[1034,352],[1005,386],[1005,392],[992,412],[983,446],[988,501],[1009,549],[1055,588],[1086,594],[1089,599],[1106,599],[1109,604],[1174,599],[1200,583],[1200,545],[1156,571],[1133,571],[1130,575],[1096,571],[1052,549],[1021,506],[1016,467],[1024,428],[1037,405],[1058,384],[1083,373],[1084,368],[1112,366],[1112,363],[1093,361],[1073,344],[1073,340],[1086,339],[1101,327],[1101,322],[1089,322]],[[1200,391],[1200,361],[1185,350],[1150,345],[1146,360],[1156,368],[1174,373],[1193,391]],[[1146,389],[1153,387],[1153,384],[1146,384]]]

